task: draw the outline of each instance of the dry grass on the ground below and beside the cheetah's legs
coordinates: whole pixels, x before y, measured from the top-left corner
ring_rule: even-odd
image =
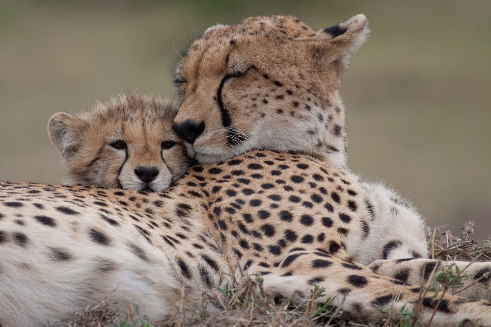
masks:
[[[440,260],[489,261],[491,260],[491,241],[476,241],[472,239],[474,225],[466,223],[458,234],[449,230],[435,228],[432,231],[430,248],[432,256]],[[462,286],[466,278],[464,271],[455,271],[453,266],[448,269],[434,271],[429,281],[422,287],[421,301],[425,296],[436,290],[450,292]],[[379,321],[357,321],[350,317],[349,312],[343,312],[330,305],[332,299],[319,301],[324,297],[324,290],[314,287],[310,290],[306,301],[298,306],[288,299],[278,300],[269,296],[262,287],[258,277],[245,277],[241,282],[232,285],[225,284],[203,298],[203,302],[220,303],[222,312],[211,315],[205,305],[201,311],[192,316],[174,317],[160,324],[150,324],[145,317],[140,317],[137,310],[132,310],[126,319],[120,319],[117,312],[109,310],[103,302],[84,312],[77,314],[74,321],[65,326],[69,327],[180,327],[193,325],[199,327],[310,327],[310,326],[383,326],[383,327],[412,327],[419,326],[418,312],[421,306],[416,304],[411,312],[390,312],[381,309]],[[324,300],[324,299],[323,299]],[[319,303],[320,302],[320,303]],[[396,318],[398,317],[398,318]],[[62,326],[62,325],[56,325]]]

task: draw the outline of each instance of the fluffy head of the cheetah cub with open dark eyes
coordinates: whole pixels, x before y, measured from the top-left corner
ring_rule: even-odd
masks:
[[[63,182],[164,190],[189,165],[171,128],[176,112],[170,99],[125,94],[85,113],[54,114],[48,133],[63,158]]]

